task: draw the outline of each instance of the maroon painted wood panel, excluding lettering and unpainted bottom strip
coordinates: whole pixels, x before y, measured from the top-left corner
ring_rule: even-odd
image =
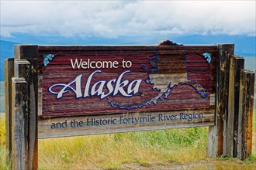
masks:
[[[88,115],[88,114],[112,114],[112,113],[126,113],[137,111],[161,111],[161,110],[185,110],[192,108],[212,108],[210,105],[210,97],[201,97],[195,91],[195,88],[186,84],[179,84],[172,87],[171,94],[164,100],[158,100],[157,104],[147,104],[144,107],[137,109],[126,110],[112,107],[109,100],[113,100],[118,104],[126,106],[141,104],[157,96],[158,90],[153,90],[153,84],[146,83],[149,78],[150,71],[156,69],[152,65],[158,65],[157,72],[152,72],[151,75],[158,75],[164,77],[174,76],[174,80],[182,79],[181,73],[186,73],[187,79],[196,82],[203,88],[207,89],[209,93],[215,94],[215,68],[216,68],[216,47],[202,46],[201,48],[195,46],[188,46],[185,55],[185,46],[40,46],[39,47],[39,65],[40,75],[42,80],[43,93],[43,117],[60,117],[60,116],[74,116],[74,115]],[[79,49],[79,50],[78,50]],[[212,53],[212,62],[207,63],[202,53]],[[159,61],[154,57],[159,56]],[[54,54],[54,59],[50,61],[47,66],[43,66],[43,55]],[[91,61],[118,61],[118,69],[99,69],[102,73],[97,73],[92,79],[92,84],[99,80],[112,80],[119,76],[126,70],[123,80],[137,80],[142,79],[139,93],[133,97],[123,97],[117,94],[115,97],[109,96],[103,100],[99,97],[75,98],[74,93],[64,93],[64,97],[56,99],[56,95],[51,94],[48,90],[50,86],[56,83],[70,83],[74,78],[83,74],[82,78],[82,93],[84,93],[85,83],[88,75],[97,69],[72,69],[70,59],[91,59]],[[130,60],[133,66],[130,69],[124,69],[121,62]],[[150,62],[152,62],[150,64]],[[148,70],[143,70],[142,65],[147,66]],[[171,76],[172,77],[172,76]],[[168,80],[172,81],[172,80]],[[161,80],[158,84],[165,84]],[[92,85],[91,85],[92,87]],[[57,88],[56,88],[57,89]],[[107,91],[107,90],[106,90]]]

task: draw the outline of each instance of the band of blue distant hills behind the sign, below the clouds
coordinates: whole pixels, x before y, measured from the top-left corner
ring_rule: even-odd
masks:
[[[240,56],[256,56],[256,36],[125,36],[116,39],[106,39],[100,37],[88,37],[82,39],[80,37],[60,37],[60,36],[31,36],[26,34],[15,35],[11,38],[2,38],[0,40],[0,81],[4,80],[4,59],[13,56],[13,45],[16,42],[26,44],[48,44],[48,45],[152,45],[161,39],[169,39],[171,41],[182,44],[216,44],[216,43],[234,43],[235,54]]]

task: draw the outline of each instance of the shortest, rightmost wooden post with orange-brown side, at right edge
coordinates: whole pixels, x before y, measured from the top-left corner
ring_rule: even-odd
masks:
[[[242,70],[240,73],[237,158],[241,160],[251,154],[254,76],[255,74],[248,70]]]

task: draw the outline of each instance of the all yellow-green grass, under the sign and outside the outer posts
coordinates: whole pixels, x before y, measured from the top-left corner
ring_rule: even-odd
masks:
[[[254,115],[256,111],[254,111]],[[5,121],[0,121],[0,169],[5,169]],[[256,117],[254,116],[254,139]],[[218,162],[256,168],[256,153],[245,162],[206,158],[208,128],[170,129],[39,140],[40,169],[203,168]],[[195,167],[195,169],[196,169]],[[248,168],[249,167],[249,168]],[[250,168],[252,167],[252,168]]]

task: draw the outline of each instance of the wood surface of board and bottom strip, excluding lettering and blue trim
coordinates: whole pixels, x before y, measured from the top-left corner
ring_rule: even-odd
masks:
[[[215,107],[215,89],[216,84],[216,56],[217,46],[183,46],[175,45],[170,42],[162,43],[160,46],[38,46],[39,49],[39,135],[40,138],[53,138],[67,135],[81,134],[99,134],[103,130],[81,130],[70,131],[64,134],[64,131],[50,129],[50,123],[63,121],[72,117],[80,117],[85,120],[86,117],[108,117],[108,115],[120,116],[123,114],[140,115],[141,113],[206,113],[209,121],[195,121],[194,126],[213,125],[213,113]],[[211,53],[211,62],[206,61],[203,53]],[[43,66],[43,56],[53,54],[54,59],[50,60],[47,66]],[[156,56],[158,58],[156,58]],[[116,97],[100,100],[99,97],[87,97],[75,99],[74,93],[66,93],[61,100],[49,93],[48,88],[54,83],[68,83],[74,80],[74,77],[83,74],[84,79],[92,73],[93,69],[72,69],[70,59],[91,59],[91,61],[118,61],[123,59],[130,60],[133,66],[129,69],[131,73],[124,76],[124,80],[143,79],[140,87],[140,93],[133,97],[122,97],[119,94]],[[147,70],[141,66],[147,66]],[[155,69],[157,66],[157,70]],[[111,80],[117,78],[120,73],[127,69],[119,64],[118,69],[101,69],[102,73],[94,77],[92,84],[99,80]],[[152,71],[154,70],[154,71]],[[154,84],[146,83],[146,80],[154,81]],[[83,86],[85,86],[83,80]],[[152,90],[157,87],[166,90],[169,83],[181,83],[171,88],[171,94],[164,100],[157,100],[157,104],[145,105],[132,110],[124,110],[112,107],[108,100],[114,100],[117,104],[133,105],[150,100],[152,97],[163,93]],[[206,98],[196,92],[195,87],[204,87],[209,91]],[[84,87],[82,87],[84,88]],[[64,118],[61,118],[64,117]],[[43,124],[46,124],[43,125]],[[201,124],[201,125],[200,125]],[[192,122],[188,123],[177,121],[168,126],[160,124],[157,127],[154,124],[144,124],[143,129],[163,129],[175,127],[190,127]],[[123,124],[123,127],[113,126],[110,130],[104,128],[104,133],[133,131],[136,126]],[[72,129],[71,129],[72,130]],[[73,129],[74,130],[74,129]],[[67,130],[66,130],[67,131]],[[88,131],[88,132],[87,132]],[[134,130],[135,131],[135,130]]]

